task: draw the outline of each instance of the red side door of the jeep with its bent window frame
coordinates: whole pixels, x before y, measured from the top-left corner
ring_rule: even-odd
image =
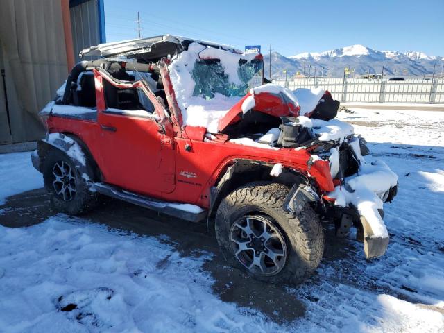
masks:
[[[95,74],[105,182],[152,196],[172,192],[174,145],[160,126],[162,105],[140,81],[122,84]]]

